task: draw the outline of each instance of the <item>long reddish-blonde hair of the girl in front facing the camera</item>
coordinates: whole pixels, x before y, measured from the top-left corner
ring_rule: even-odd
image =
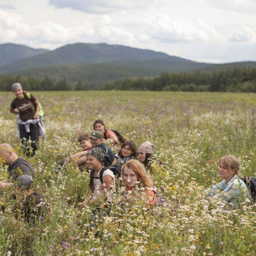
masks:
[[[153,186],[151,177],[147,174],[146,170],[144,169],[142,163],[140,161],[135,160],[135,159],[130,159],[125,163],[125,166],[122,169],[122,185],[125,186],[124,183],[124,169],[125,167],[132,169],[135,174],[138,177],[138,180],[140,181],[140,185],[147,188]]]

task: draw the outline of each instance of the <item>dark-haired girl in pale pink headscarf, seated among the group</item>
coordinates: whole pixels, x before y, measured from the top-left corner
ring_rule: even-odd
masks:
[[[149,141],[142,143],[138,148],[139,160],[143,163],[145,169],[151,173],[159,172],[161,169],[165,171],[163,163],[153,155],[154,147],[155,145],[152,145]]]

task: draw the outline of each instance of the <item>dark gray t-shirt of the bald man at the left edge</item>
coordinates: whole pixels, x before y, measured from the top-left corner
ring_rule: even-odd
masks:
[[[17,177],[23,174],[30,175],[33,178],[35,176],[32,165],[22,157],[18,157],[17,160],[13,162],[12,166],[8,167],[7,172],[11,182],[15,181]]]

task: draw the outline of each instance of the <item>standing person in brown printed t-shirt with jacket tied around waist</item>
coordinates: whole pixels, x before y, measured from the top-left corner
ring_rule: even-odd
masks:
[[[12,91],[16,98],[11,103],[10,112],[18,115],[18,135],[23,145],[24,153],[26,156],[33,156],[37,150],[39,140],[38,120],[40,105],[32,94],[30,94],[31,99],[28,98],[20,83],[12,84]],[[35,108],[32,102],[35,104]],[[26,143],[29,139],[31,140],[31,145]],[[32,151],[29,150],[30,146]]]

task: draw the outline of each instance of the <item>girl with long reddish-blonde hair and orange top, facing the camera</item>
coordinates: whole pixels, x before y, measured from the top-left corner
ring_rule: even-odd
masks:
[[[125,186],[126,193],[120,198],[119,204],[122,204],[125,200],[132,203],[132,197],[145,198],[146,205],[157,203],[157,196],[153,192],[151,178],[138,160],[131,159],[125,163],[122,169],[122,185]],[[144,189],[138,193],[137,189],[141,188]]]

